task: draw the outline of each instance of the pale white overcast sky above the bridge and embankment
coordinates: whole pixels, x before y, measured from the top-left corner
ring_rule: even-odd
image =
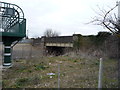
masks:
[[[85,24],[102,9],[110,9],[117,0],[1,0],[20,6],[27,19],[29,37],[41,37],[46,29],[60,35],[97,34],[101,26]]]

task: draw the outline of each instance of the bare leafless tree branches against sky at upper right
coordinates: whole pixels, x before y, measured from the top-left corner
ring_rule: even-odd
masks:
[[[106,11],[104,9],[100,9],[100,14],[98,14],[98,16],[95,16],[93,18],[93,21],[91,21],[90,23],[94,23],[95,25],[101,25],[105,28],[107,28],[108,30],[110,30],[113,34],[118,34],[119,31],[119,20],[118,17],[116,17],[116,14],[112,13],[112,11],[118,6],[118,4],[116,4],[113,8],[111,8],[110,10]]]

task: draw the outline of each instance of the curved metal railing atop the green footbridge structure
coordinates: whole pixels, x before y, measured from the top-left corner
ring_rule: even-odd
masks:
[[[15,5],[0,1],[0,32],[9,32],[10,28],[24,19],[23,10]]]

